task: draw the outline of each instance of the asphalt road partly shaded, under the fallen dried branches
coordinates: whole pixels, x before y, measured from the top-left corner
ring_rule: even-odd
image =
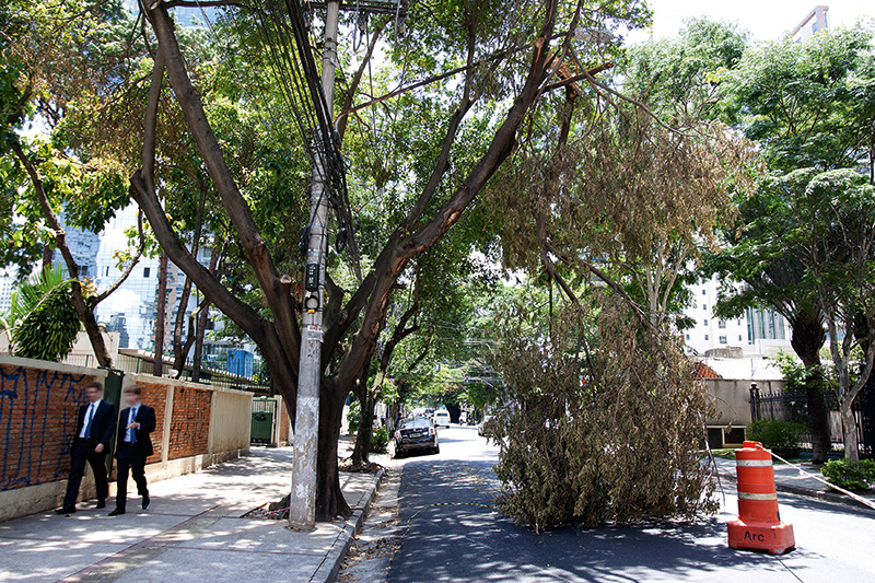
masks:
[[[875,513],[779,494],[797,549],[782,557],[726,546],[723,510],[696,524],[565,527],[536,535],[491,510],[498,450],[474,428],[440,430],[441,454],[404,462],[393,582],[875,581]]]

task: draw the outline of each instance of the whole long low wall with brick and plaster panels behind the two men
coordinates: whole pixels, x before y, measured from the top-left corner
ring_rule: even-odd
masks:
[[[0,521],[60,503],[77,410],[85,401],[83,387],[106,374],[0,354]],[[155,409],[155,453],[147,460],[148,479],[166,479],[248,454],[252,393],[140,374],[124,377],[122,388],[131,384],[142,388],[142,401]],[[94,494],[90,474],[81,499]],[[133,488],[129,485],[129,491]]]

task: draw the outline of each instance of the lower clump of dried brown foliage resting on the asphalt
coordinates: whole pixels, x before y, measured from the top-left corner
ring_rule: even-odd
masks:
[[[576,315],[555,313],[549,341],[544,320],[528,327],[528,312],[502,322],[505,406],[488,431],[499,446],[497,508],[536,532],[713,512],[713,481],[695,454],[704,385],[678,345],[657,345],[607,304],[587,358]]]

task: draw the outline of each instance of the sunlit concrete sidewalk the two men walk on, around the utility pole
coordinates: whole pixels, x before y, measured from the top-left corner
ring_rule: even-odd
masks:
[[[109,517],[94,502],[69,516],[40,513],[0,523],[0,581],[331,581],[380,476],[340,475],[355,513],[311,533],[284,521],[242,518],[290,488],[291,448],[252,455],[150,485],[152,503],[128,500]]]

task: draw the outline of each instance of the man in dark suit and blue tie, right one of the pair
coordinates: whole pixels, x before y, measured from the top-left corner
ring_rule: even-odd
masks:
[[[142,389],[137,385],[125,389],[125,398],[129,407],[119,417],[118,460],[116,481],[116,509],[110,516],[125,514],[128,498],[128,473],[137,482],[137,493],[143,497],[143,510],[149,508],[149,489],[145,487],[145,458],[154,453],[152,438],[155,430],[155,410],[142,404]]]

